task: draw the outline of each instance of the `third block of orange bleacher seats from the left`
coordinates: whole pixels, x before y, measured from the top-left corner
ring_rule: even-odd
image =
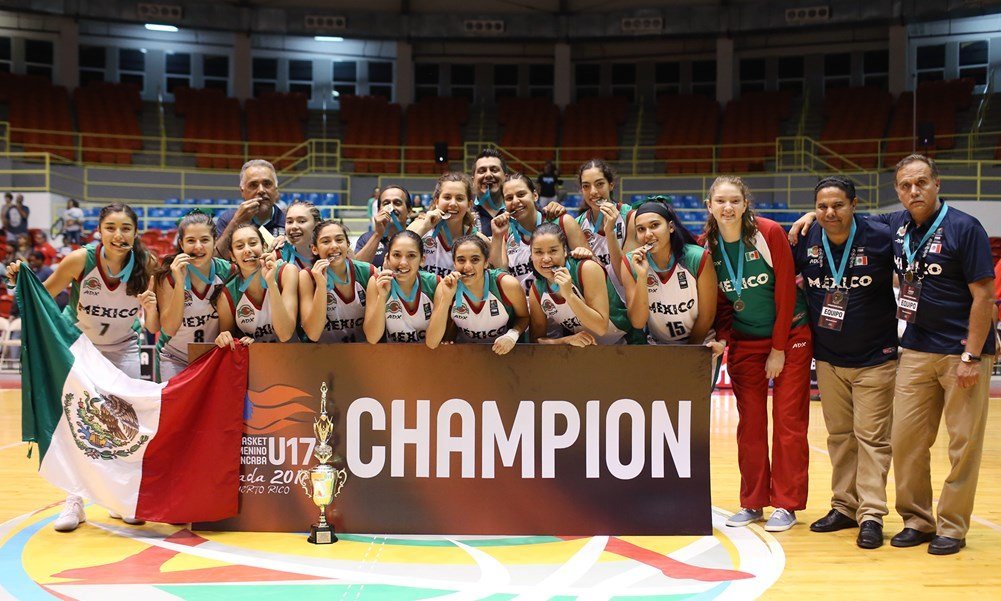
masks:
[[[174,89],[174,112],[184,117],[186,152],[204,169],[239,169],[243,164],[240,104],[218,89]]]

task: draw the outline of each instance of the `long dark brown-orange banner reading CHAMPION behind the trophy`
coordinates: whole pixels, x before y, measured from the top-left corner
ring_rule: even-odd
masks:
[[[339,532],[712,532],[702,346],[252,345],[250,366],[240,514],[200,529],[316,522],[326,382]]]

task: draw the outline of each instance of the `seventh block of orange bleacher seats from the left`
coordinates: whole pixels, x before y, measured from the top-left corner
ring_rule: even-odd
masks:
[[[500,145],[514,155],[512,170],[543,170],[556,158],[560,131],[560,109],[546,98],[502,98],[497,106],[502,126]]]

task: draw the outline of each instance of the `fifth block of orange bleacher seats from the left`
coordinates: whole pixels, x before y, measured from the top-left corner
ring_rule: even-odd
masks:
[[[354,161],[355,172],[400,172],[398,104],[382,96],[342,96],[340,121],[345,127],[342,154]]]

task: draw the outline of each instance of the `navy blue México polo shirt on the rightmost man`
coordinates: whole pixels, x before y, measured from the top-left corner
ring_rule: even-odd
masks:
[[[871,217],[890,225],[894,263],[900,277],[907,268],[904,234],[910,230],[911,244],[917,245],[941,210],[939,207],[920,227],[906,210]],[[966,349],[973,305],[969,284],[994,277],[990,240],[976,217],[950,206],[927,246],[927,255],[924,248],[919,248],[916,256],[917,274],[922,277],[917,320],[907,325],[900,346],[924,353],[960,355]],[[994,333],[990,326],[985,336],[981,353],[993,354]]]

